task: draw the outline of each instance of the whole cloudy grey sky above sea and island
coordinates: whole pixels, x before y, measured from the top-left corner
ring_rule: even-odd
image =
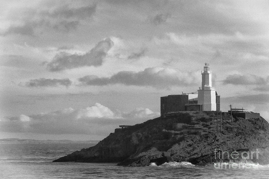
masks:
[[[196,92],[269,121],[269,1],[0,1],[0,138],[102,140]]]

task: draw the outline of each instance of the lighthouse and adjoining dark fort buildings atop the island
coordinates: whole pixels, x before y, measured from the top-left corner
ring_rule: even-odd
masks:
[[[212,87],[212,73],[209,64],[205,63],[201,71],[202,86],[194,93],[168,95],[161,97],[161,115],[178,111],[219,111],[220,96]]]

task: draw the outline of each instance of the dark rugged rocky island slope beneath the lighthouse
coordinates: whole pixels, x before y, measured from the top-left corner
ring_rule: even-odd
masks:
[[[162,161],[157,159],[162,157],[161,151],[167,151],[174,161],[210,165],[229,161],[234,151],[239,153],[235,160],[242,161],[242,152],[246,156],[249,151],[250,161],[269,164],[269,124],[265,119],[234,118],[231,126],[230,115],[223,113],[221,135],[216,131],[215,114],[184,112],[155,118],[116,130],[96,146],[53,162],[120,162],[118,165],[146,166],[150,161]],[[173,129],[174,123],[186,125]],[[251,151],[257,149],[258,155],[251,155]],[[227,152],[223,155],[223,151]],[[236,158],[236,155],[233,157]]]

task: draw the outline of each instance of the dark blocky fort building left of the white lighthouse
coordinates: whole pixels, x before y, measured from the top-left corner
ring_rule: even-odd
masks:
[[[161,97],[161,115],[167,112],[185,111],[188,95],[168,95]]]

